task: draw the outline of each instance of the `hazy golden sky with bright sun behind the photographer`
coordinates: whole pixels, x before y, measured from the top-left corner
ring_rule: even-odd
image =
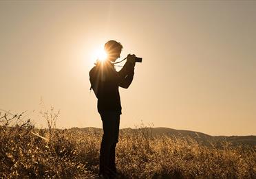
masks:
[[[0,27],[0,109],[38,128],[51,106],[57,128],[102,128],[89,70],[117,40],[143,58],[120,128],[256,135],[256,1],[0,1]]]

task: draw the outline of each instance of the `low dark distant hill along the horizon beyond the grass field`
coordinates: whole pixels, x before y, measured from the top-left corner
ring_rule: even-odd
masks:
[[[101,128],[71,128],[70,130],[79,130],[89,133],[103,133]],[[175,130],[171,128],[124,128],[120,129],[120,134],[123,132],[139,132],[140,130],[145,130],[151,136],[161,136],[167,135],[171,137],[191,137],[198,141],[199,143],[209,144],[209,143],[222,143],[227,141],[233,145],[255,145],[256,146],[256,136],[211,136],[209,134],[204,134],[202,132],[195,132],[191,130]],[[147,130],[147,131],[146,131]]]

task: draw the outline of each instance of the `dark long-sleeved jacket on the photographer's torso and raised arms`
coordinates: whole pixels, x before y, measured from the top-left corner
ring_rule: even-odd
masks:
[[[98,98],[98,112],[122,113],[118,87],[128,88],[134,78],[134,65],[126,62],[120,71],[109,61],[97,62],[89,71],[89,80]]]

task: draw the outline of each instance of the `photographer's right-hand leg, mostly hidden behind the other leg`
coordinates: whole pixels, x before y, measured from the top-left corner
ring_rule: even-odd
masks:
[[[115,115],[114,121],[114,143],[111,145],[110,156],[109,156],[109,168],[111,171],[116,174],[116,143],[118,143],[118,135],[119,135],[119,123],[120,123],[120,115]]]

